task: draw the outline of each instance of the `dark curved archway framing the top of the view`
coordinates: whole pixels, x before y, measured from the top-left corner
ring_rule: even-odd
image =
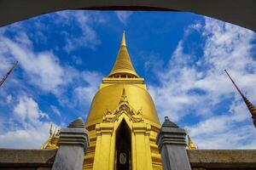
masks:
[[[256,31],[255,0],[0,0],[0,26],[66,9],[183,11]]]

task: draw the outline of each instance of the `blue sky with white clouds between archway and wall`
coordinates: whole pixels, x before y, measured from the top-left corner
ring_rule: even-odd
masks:
[[[122,32],[160,120],[189,130],[201,149],[256,147],[256,131],[230,71],[256,105],[256,34],[197,14],[61,11],[0,28],[0,147],[39,148],[49,123],[86,120]]]

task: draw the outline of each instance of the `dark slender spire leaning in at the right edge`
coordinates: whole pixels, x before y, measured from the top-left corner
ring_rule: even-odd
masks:
[[[228,73],[228,71],[224,70],[228,77],[230,77],[230,74]],[[256,127],[256,108],[254,107],[254,105],[247,99],[247,97],[241,93],[241,90],[236,86],[236,83],[233,81],[233,79],[230,77],[231,82],[234,84],[234,86],[236,87],[238,93],[241,95],[241,98],[243,99],[243,101],[245,102],[245,104],[247,105],[248,110],[250,111],[252,118],[253,118],[253,124],[254,127]]]

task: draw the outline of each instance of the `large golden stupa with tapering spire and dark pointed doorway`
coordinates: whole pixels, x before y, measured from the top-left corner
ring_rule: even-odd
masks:
[[[144,79],[131,64],[125,32],[113,69],[92,100],[85,127],[90,146],[84,169],[162,169],[155,144],[160,122]]]

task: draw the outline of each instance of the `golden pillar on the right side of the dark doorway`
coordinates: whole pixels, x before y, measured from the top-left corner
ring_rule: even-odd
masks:
[[[132,125],[134,133],[134,143],[133,147],[136,154],[137,170],[151,170],[152,169],[152,159],[150,154],[150,143],[149,143],[149,133],[150,125],[143,122],[133,123]]]

